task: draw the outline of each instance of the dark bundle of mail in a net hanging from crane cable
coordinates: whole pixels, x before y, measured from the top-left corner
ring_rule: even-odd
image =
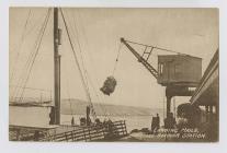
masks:
[[[100,91],[102,91],[103,94],[110,96],[110,94],[114,92],[115,86],[116,86],[116,80],[114,79],[114,76],[107,76]]]

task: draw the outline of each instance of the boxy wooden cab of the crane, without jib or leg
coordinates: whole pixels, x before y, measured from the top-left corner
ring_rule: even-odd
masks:
[[[188,55],[158,56],[158,83],[195,87],[202,76],[202,58]]]

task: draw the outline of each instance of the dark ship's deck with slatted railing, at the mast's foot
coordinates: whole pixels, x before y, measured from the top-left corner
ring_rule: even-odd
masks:
[[[114,141],[127,134],[125,120],[84,127],[69,125],[48,128],[10,127],[10,139],[13,141]]]

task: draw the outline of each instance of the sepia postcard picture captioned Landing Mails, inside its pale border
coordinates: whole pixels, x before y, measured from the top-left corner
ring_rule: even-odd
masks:
[[[219,10],[10,7],[9,141],[218,142]]]

